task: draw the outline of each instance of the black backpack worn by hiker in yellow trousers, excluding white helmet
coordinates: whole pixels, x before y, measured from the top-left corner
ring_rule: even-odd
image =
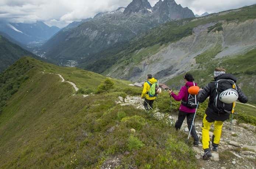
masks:
[[[232,113],[233,103],[226,104],[221,102],[219,99],[221,92],[227,89],[237,90],[236,84],[233,80],[221,79],[221,80],[215,81],[214,108],[215,108],[215,111],[218,112],[218,114]]]

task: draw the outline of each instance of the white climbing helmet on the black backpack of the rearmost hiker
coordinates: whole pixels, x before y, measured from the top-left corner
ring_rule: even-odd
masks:
[[[221,92],[219,99],[223,103],[231,104],[238,99],[238,93],[235,89],[227,89]]]

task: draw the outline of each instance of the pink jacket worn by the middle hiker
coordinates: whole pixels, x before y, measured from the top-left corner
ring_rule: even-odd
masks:
[[[197,84],[195,83],[195,85],[197,86]],[[193,82],[187,82],[185,84],[185,86],[182,86],[180,88],[180,91],[179,91],[179,94],[178,96],[175,94],[175,93],[171,93],[171,96],[176,100],[176,101],[180,101],[180,100],[184,100],[184,101],[187,101],[187,97],[189,95],[189,92],[187,91],[187,86],[190,87],[190,86],[194,86],[193,85]],[[196,109],[194,108],[188,108],[182,104],[180,104],[180,107],[179,107],[179,110],[180,111],[183,111],[183,112],[186,112],[186,113],[194,113],[196,112]]]

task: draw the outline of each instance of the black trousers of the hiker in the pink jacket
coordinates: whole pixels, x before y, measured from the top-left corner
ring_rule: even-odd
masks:
[[[180,129],[185,117],[187,117],[187,127],[190,130],[192,122],[193,122],[193,118],[194,118],[194,113],[186,113],[186,112],[183,112],[183,111],[179,111],[178,120],[175,123],[176,130]],[[194,125],[193,125],[192,130],[191,130],[191,136],[194,138],[194,141],[199,140],[198,136],[197,136],[197,133],[196,133],[196,129],[194,128]]]

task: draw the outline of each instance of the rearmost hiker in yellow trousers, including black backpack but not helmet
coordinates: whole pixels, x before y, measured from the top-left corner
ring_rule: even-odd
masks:
[[[205,115],[203,118],[203,126],[202,126],[202,144],[204,155],[203,159],[207,160],[211,157],[211,148],[210,148],[210,137],[209,137],[209,130],[211,125],[214,123],[214,132],[212,137],[212,150],[218,151],[218,145],[220,143],[221,138],[221,131],[223,122],[229,119],[229,115],[232,113],[233,104],[225,104],[223,101],[221,102],[220,95],[221,91],[225,91],[227,89],[233,88],[236,90],[234,93],[238,93],[238,100],[241,103],[246,103],[248,98],[245,94],[236,86],[236,77],[231,74],[225,73],[226,70],[223,68],[216,68],[214,71],[214,80],[207,84],[207,86],[200,89],[198,94],[198,100],[200,103],[203,103],[208,96],[209,103],[208,107],[206,108]],[[231,90],[233,90],[231,89]],[[232,92],[225,94],[226,97],[228,95],[231,96]],[[235,98],[235,100],[237,99]],[[222,107],[222,108],[221,108]]]

